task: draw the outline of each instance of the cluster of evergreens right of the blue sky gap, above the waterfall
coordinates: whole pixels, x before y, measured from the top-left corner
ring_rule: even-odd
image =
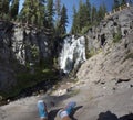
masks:
[[[80,0],[79,9],[73,7],[73,23],[71,28],[72,34],[85,33],[90,26],[98,24],[104,19],[106,12],[105,4],[101,4],[99,9],[95,6],[91,6],[86,0],[84,3]]]

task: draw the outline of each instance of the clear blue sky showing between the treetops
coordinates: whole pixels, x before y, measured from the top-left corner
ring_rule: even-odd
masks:
[[[66,26],[68,33],[70,32],[71,26],[72,26],[73,6],[75,6],[75,8],[78,9],[79,1],[80,0],[61,0],[61,3],[64,4],[66,7],[66,10],[68,10],[68,18],[69,18],[69,23]],[[82,0],[82,2],[85,2],[85,1],[86,0]],[[104,2],[106,8],[108,8],[108,11],[111,11],[113,1],[114,0],[90,0],[90,3],[92,6],[95,6],[96,8],[99,8],[99,6]],[[22,8],[23,2],[24,2],[24,0],[20,0],[20,9]]]

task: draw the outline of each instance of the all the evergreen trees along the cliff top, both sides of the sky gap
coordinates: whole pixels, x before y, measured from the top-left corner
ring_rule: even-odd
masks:
[[[0,0],[0,19],[18,21],[27,25],[41,28],[49,35],[61,36],[66,34],[68,10],[61,0],[24,0],[23,8],[19,12],[20,0]],[[125,3],[125,0],[114,0],[114,6]],[[79,9],[73,7],[71,33],[76,34],[86,31],[99,23],[106,12],[105,4],[100,8],[80,0]]]

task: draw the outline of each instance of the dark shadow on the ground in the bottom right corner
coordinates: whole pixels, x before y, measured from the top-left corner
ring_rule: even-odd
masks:
[[[133,120],[133,113],[117,118],[116,114],[112,113],[111,111],[106,111],[100,113],[98,120]]]

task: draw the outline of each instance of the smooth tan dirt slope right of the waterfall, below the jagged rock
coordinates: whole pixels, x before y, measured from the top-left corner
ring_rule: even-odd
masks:
[[[90,81],[111,79],[133,80],[133,33],[130,33],[117,45],[102,51],[88,59],[78,73],[78,78]]]

